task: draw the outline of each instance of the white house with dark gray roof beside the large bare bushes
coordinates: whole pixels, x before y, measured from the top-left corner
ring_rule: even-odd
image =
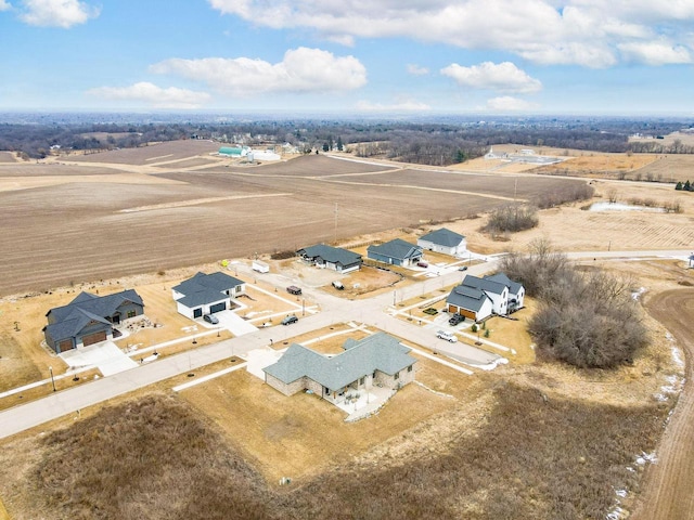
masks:
[[[525,288],[505,274],[479,278],[467,275],[446,299],[448,312],[481,322],[492,314],[505,316],[523,308]]]

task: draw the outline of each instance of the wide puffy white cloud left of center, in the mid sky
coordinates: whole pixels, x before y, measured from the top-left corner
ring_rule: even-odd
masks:
[[[286,51],[282,62],[275,64],[248,57],[171,58],[150,69],[203,81],[227,94],[246,96],[267,92],[336,92],[367,83],[367,69],[356,57],[339,57],[303,47]]]

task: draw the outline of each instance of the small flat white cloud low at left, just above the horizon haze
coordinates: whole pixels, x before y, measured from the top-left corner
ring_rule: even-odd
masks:
[[[154,108],[198,108],[210,99],[207,92],[176,87],[163,89],[146,81],[130,87],[100,87],[87,93],[105,100],[144,102]]]

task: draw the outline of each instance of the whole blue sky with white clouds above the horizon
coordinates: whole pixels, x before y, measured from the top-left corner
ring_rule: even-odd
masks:
[[[694,115],[694,0],[0,0],[0,110]]]

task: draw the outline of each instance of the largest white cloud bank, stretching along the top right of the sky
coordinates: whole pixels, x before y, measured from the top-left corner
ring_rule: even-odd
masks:
[[[668,37],[693,52],[692,0],[208,0],[257,26],[311,29],[352,46],[357,38],[404,37],[515,53],[536,63],[609,67],[620,46]],[[271,4],[271,8],[268,8]],[[650,61],[643,63],[651,63]],[[672,61],[668,62],[672,63]],[[679,62],[678,62],[679,63]]]

